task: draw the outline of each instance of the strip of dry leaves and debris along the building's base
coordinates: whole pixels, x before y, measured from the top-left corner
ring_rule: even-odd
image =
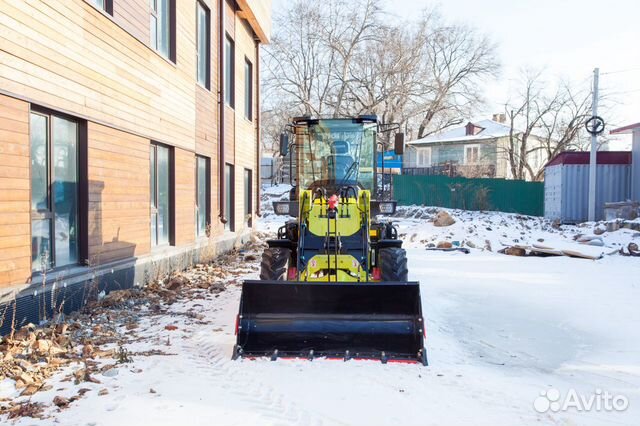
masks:
[[[43,418],[46,406],[30,397],[51,390],[47,379],[71,367],[63,381],[80,386],[75,396],[56,396],[52,404],[64,409],[89,392],[84,382],[100,383],[100,375],[113,374],[133,356],[170,355],[151,351],[130,353],[126,345],[149,337],[137,334],[143,316],[162,315],[182,298],[218,297],[228,286],[240,285],[240,277],[258,270],[260,237],[240,250],[219,256],[211,263],[172,273],[144,288],[132,288],[99,294],[81,312],[58,316],[40,326],[28,324],[0,340],[0,382],[12,380],[17,397],[0,399],[0,418]],[[187,312],[187,315],[190,313]],[[204,321],[193,314],[195,321]],[[167,326],[169,327],[169,326]],[[106,388],[99,395],[108,393]]]

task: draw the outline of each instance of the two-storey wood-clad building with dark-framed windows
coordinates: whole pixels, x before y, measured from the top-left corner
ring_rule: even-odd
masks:
[[[270,13],[270,0],[0,2],[0,312],[15,298],[19,323],[38,320],[35,287],[46,310],[61,292],[77,307],[88,282],[141,284],[247,238]]]

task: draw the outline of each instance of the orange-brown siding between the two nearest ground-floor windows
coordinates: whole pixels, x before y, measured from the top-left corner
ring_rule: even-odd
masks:
[[[88,124],[89,262],[149,253],[149,140]]]

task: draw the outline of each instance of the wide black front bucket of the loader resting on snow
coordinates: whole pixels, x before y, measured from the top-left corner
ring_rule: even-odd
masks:
[[[417,282],[245,281],[234,359],[367,358],[427,365]]]

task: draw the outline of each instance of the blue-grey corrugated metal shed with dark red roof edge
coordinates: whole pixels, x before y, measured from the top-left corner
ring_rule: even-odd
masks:
[[[604,219],[604,203],[631,196],[631,153],[597,155],[596,219]],[[563,152],[545,168],[544,216],[563,223],[585,222],[589,212],[589,153]]]

